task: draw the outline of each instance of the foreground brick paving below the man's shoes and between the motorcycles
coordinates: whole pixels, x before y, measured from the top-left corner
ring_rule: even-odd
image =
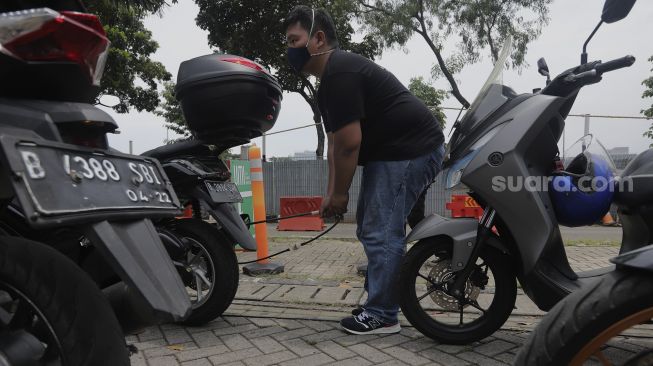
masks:
[[[250,330],[241,333],[243,327]],[[438,344],[410,327],[398,335],[353,336],[332,320],[240,316],[221,317],[199,328],[155,329],[159,332],[127,337],[139,349],[132,356],[133,366],[508,365],[528,337],[528,331],[500,330],[480,342],[452,346]],[[192,341],[171,342],[164,336],[171,331],[186,333]],[[152,339],[153,333],[160,338]],[[202,343],[204,338],[211,339],[210,346]],[[607,352],[627,357],[646,347],[653,347],[653,340],[626,338]]]

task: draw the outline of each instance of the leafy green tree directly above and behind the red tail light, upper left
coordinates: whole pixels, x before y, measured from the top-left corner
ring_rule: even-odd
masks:
[[[115,95],[120,102],[112,106],[118,113],[130,109],[152,112],[159,105],[158,84],[171,75],[160,62],[150,59],[159,45],[143,19],[160,12],[164,0],[88,2],[88,12],[97,14],[104,25],[111,48],[102,77],[101,94]]]

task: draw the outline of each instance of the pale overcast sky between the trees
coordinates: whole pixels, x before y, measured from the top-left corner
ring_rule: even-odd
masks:
[[[530,66],[521,75],[506,70],[504,83],[518,93],[531,91],[544,85],[544,78],[537,73],[537,60],[545,57],[553,76],[578,65],[582,44],[600,19],[603,2],[598,0],[557,0],[551,5],[551,21],[542,35],[529,45],[526,60]],[[195,24],[198,8],[191,0],[182,0],[167,8],[162,17],[152,16],[145,24],[159,42],[154,59],[162,62],[176,78],[179,64],[187,59],[210,53],[207,33]],[[653,55],[653,1],[639,0],[630,15],[614,24],[604,24],[588,46],[589,60],[607,61],[628,54],[637,58],[628,68],[604,76],[601,83],[584,88],[571,113],[593,115],[641,116],[640,111],[653,104],[653,99],[642,99],[644,87],[641,82],[653,72],[648,60]],[[263,37],[265,35],[262,35]],[[445,44],[453,49],[455,44]],[[408,85],[410,78],[423,76],[430,80],[430,69],[435,56],[424,40],[414,37],[404,50],[386,51],[376,62],[394,73]],[[456,75],[463,95],[471,102],[492,69],[487,52],[484,60],[466,67]],[[444,80],[435,86],[449,89]],[[449,98],[445,106],[458,107]],[[447,130],[453,124],[457,112],[447,111]],[[129,141],[134,142],[134,153],[163,144],[166,129],[163,119],[151,113],[131,112],[113,114],[122,133],[110,137],[112,146],[127,151]],[[310,108],[297,94],[284,94],[279,119],[270,132],[285,130],[312,123]],[[591,132],[608,147],[628,146],[631,152],[646,149],[651,140],[642,137],[650,121],[632,119],[591,119]],[[172,133],[172,132],[171,132]],[[566,127],[566,146],[583,134],[583,118],[569,117]],[[261,146],[261,139],[254,142]],[[277,134],[267,138],[267,156],[289,156],[294,152],[315,150],[317,137],[314,127]],[[562,141],[560,143],[562,146]]]

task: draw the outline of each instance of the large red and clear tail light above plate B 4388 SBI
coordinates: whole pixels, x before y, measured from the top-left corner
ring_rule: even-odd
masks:
[[[109,39],[97,16],[48,8],[0,14],[0,52],[23,61],[74,62],[100,85]]]

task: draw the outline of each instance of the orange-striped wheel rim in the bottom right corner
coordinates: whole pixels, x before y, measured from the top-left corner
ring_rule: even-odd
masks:
[[[612,365],[613,363],[603,354],[603,348],[612,338],[620,335],[625,330],[636,325],[642,324],[653,318],[653,307],[644,309],[619,322],[611,325],[599,335],[590,340],[572,359],[570,365],[582,365],[592,357],[596,357],[602,365]]]

